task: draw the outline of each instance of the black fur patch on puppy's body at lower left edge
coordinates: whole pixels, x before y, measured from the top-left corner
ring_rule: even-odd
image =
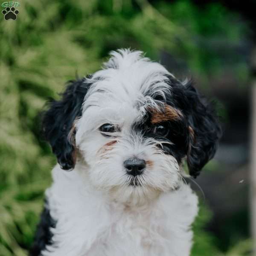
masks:
[[[56,221],[50,216],[50,212],[45,203],[43,212],[41,213],[41,221],[38,224],[37,231],[35,233],[34,243],[29,250],[29,256],[39,256],[42,250],[46,248],[46,245],[52,244],[52,233],[50,228],[54,228]]]

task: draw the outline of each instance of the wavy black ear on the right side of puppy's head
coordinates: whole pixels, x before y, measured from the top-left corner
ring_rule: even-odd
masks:
[[[186,118],[188,120],[189,147],[187,163],[189,174],[197,177],[204,165],[214,157],[221,127],[212,105],[204,102],[192,81],[185,84],[187,101]]]

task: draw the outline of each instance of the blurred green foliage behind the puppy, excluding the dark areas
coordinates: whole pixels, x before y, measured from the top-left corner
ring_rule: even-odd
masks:
[[[156,60],[161,52],[186,59],[207,81],[226,63],[215,45],[239,44],[244,28],[218,4],[202,11],[186,0],[156,6],[146,0],[23,0],[18,9],[17,20],[0,21],[0,256],[26,255],[51,182],[55,159],[40,139],[38,118],[48,97],[124,47]],[[231,59],[244,81],[246,64]],[[202,231],[208,215],[201,210],[195,224],[193,255],[216,252],[214,239]]]

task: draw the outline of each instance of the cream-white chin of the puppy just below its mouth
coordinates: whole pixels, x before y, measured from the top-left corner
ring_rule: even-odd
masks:
[[[163,191],[150,186],[115,186],[108,193],[111,200],[129,206],[140,206],[153,202]]]

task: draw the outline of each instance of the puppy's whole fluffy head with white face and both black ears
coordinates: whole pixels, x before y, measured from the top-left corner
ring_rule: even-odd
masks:
[[[181,83],[142,52],[111,55],[44,114],[60,166],[74,168],[79,151],[90,182],[124,201],[177,188],[185,158],[196,177],[221,133],[209,106],[190,81]]]

